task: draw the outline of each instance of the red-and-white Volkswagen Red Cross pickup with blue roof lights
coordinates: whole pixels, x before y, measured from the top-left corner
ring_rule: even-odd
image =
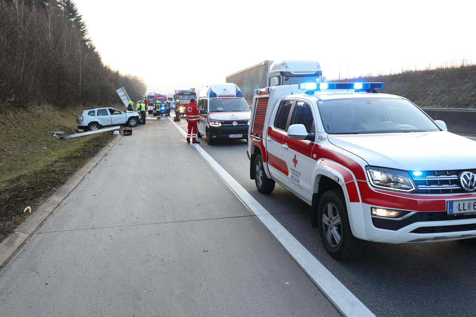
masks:
[[[383,87],[256,89],[250,178],[262,193],[278,182],[309,204],[338,259],[357,257],[363,240],[476,244],[475,141],[408,99],[377,93]]]

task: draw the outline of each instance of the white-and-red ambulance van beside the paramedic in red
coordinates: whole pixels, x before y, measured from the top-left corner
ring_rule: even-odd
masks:
[[[200,121],[197,136],[216,139],[248,139],[249,110],[241,90],[235,84],[204,85],[198,95]]]

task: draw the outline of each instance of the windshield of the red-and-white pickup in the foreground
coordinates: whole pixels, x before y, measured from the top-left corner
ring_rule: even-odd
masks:
[[[329,134],[439,131],[425,113],[405,99],[324,100],[318,108]]]

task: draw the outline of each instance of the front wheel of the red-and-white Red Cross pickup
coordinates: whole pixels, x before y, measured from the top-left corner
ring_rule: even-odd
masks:
[[[364,241],[352,235],[346,198],[341,190],[331,189],[322,195],[317,217],[322,244],[332,257],[347,260],[362,253]]]

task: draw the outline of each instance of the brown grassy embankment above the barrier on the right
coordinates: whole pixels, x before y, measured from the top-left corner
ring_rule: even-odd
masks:
[[[379,92],[403,96],[421,108],[476,108],[476,65],[408,70],[340,81],[383,81],[385,89]]]

